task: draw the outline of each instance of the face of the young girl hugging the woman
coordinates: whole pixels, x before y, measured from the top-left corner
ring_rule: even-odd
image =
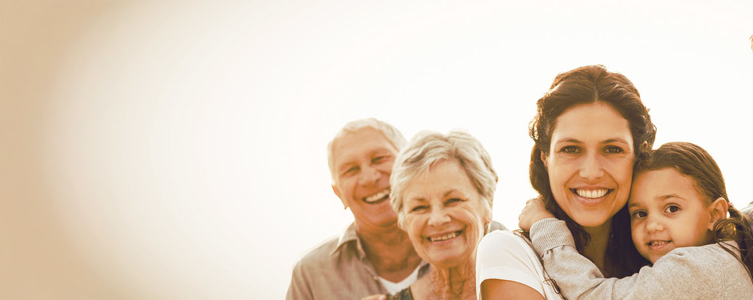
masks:
[[[698,195],[694,180],[675,168],[636,174],[628,211],[633,244],[654,263],[676,247],[712,241],[712,206]]]

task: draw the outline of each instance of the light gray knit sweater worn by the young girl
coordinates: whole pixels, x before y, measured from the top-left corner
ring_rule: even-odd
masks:
[[[604,278],[593,262],[575,250],[564,221],[538,221],[531,227],[531,241],[547,274],[569,300],[753,299],[753,283],[745,267],[719,244],[675,248],[653,266],[617,279]],[[725,243],[739,249],[734,241]]]

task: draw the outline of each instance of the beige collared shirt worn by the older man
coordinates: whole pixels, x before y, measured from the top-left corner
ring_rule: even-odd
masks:
[[[505,229],[492,222],[491,230]],[[421,263],[417,278],[428,273]],[[303,254],[293,267],[287,300],[361,299],[367,295],[386,294],[377,271],[369,262],[351,223],[340,237],[332,237]]]

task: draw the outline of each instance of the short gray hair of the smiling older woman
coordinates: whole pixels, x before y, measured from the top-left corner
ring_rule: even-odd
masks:
[[[492,199],[497,189],[497,172],[492,167],[492,158],[480,141],[467,132],[453,130],[447,135],[439,132],[419,132],[400,151],[389,177],[390,205],[398,213],[398,225],[403,216],[403,193],[413,177],[423,174],[431,165],[444,160],[460,163],[483,198],[483,208],[491,214]]]

